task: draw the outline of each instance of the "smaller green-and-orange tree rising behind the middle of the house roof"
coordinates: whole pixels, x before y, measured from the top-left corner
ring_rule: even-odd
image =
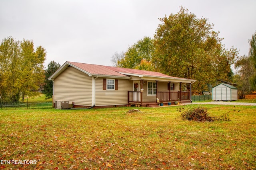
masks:
[[[153,54],[153,39],[143,37],[128,48],[124,57],[118,60],[117,66],[141,70],[154,70],[154,66],[151,64]]]

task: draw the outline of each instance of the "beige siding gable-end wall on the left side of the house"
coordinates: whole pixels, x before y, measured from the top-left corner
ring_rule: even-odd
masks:
[[[75,105],[92,106],[92,77],[69,66],[54,79],[54,102],[69,101]]]

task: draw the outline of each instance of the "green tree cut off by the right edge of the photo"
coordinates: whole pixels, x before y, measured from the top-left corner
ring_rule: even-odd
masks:
[[[256,32],[252,35],[252,39],[249,39],[248,41],[250,44],[249,57],[254,65],[254,74],[251,78],[251,84],[256,89]]]

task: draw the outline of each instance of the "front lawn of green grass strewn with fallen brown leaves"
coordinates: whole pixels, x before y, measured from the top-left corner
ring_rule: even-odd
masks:
[[[256,107],[206,105],[231,121],[184,121],[174,107],[3,109],[0,160],[16,169],[255,169]],[[185,106],[193,107],[193,106]]]

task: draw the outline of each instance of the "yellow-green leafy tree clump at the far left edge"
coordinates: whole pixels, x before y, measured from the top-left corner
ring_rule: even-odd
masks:
[[[16,41],[13,37],[0,45],[0,95],[18,101],[20,96],[33,96],[44,80],[45,49],[34,50],[32,40]]]

